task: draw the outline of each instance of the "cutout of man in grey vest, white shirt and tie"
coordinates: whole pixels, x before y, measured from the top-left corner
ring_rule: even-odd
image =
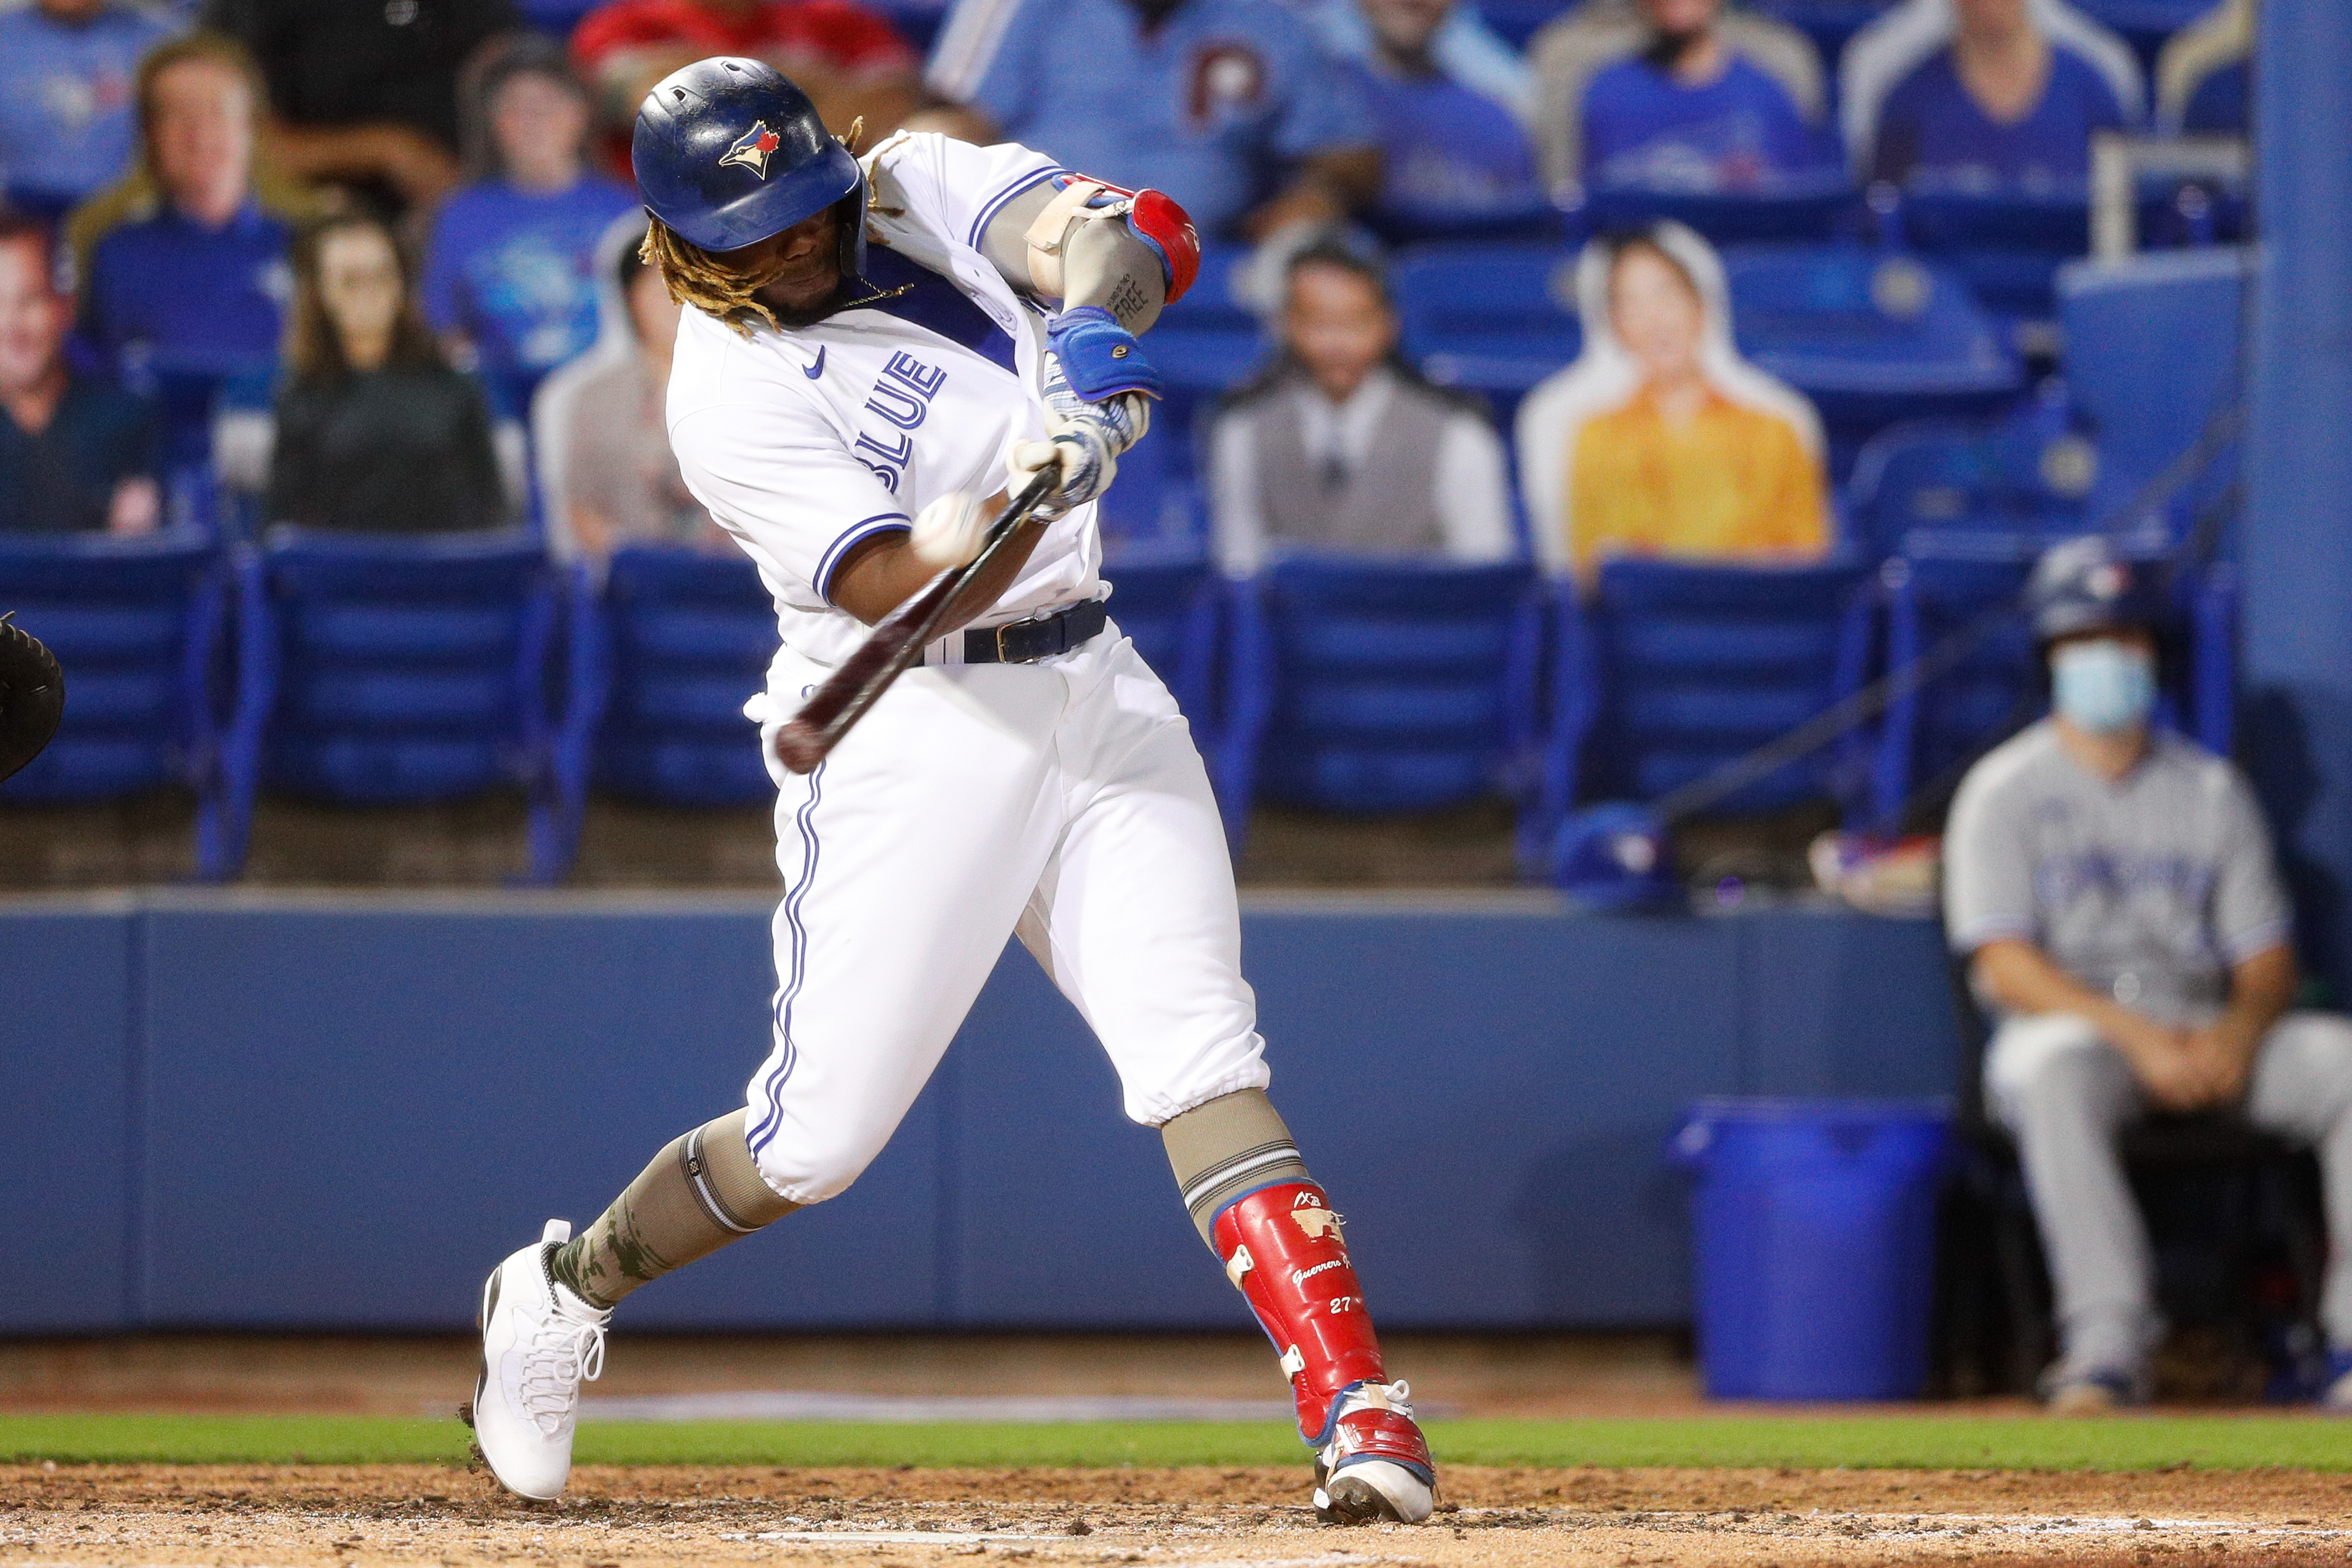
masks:
[[[1456,562],[1517,550],[1486,411],[1397,360],[1381,270],[1336,242],[1291,256],[1282,355],[1218,414],[1209,482],[1230,576],[1287,550]]]

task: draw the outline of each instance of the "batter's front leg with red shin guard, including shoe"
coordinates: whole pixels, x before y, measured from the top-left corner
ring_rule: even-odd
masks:
[[[1073,668],[1073,802],[1021,940],[1162,1126],[1202,1239],[1291,1378],[1331,1521],[1428,1519],[1435,1469],[1388,1382],[1338,1215],[1265,1100],[1225,832],[1176,705],[1124,642]]]

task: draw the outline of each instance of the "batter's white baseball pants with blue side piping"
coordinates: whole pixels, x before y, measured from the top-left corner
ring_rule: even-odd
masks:
[[[767,743],[828,665],[790,649]],[[1157,1126],[1263,1088],[1232,860],[1192,731],[1117,625],[1033,665],[915,668],[776,776],[774,1048],[748,1088],[793,1204],[882,1152],[1018,933]]]

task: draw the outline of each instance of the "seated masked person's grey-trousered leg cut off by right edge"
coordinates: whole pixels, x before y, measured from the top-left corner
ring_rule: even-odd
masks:
[[[2328,1269],[2319,1326],[2328,1335],[2331,1410],[2352,1413],[2352,1020],[2288,1013],[2253,1058],[2246,1119],[2319,1152],[2328,1218]]]

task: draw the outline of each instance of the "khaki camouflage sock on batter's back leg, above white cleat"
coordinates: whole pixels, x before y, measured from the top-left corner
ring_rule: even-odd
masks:
[[[595,1225],[555,1248],[548,1274],[590,1307],[612,1307],[800,1208],[760,1180],[743,1143],[748,1114],[708,1121],[656,1154]]]

